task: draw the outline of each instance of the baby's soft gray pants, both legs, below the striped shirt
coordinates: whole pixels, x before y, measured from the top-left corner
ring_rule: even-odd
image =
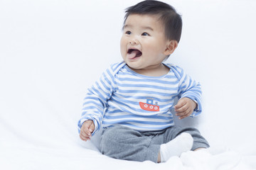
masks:
[[[193,147],[209,147],[196,128],[171,127],[161,131],[139,132],[122,125],[114,125],[102,131],[101,152],[115,159],[157,162],[160,145],[173,140],[182,132],[193,137]]]

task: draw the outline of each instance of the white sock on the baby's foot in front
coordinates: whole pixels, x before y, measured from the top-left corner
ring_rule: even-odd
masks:
[[[166,162],[170,157],[180,156],[181,153],[191,150],[193,137],[183,132],[166,144],[160,145],[161,162]]]

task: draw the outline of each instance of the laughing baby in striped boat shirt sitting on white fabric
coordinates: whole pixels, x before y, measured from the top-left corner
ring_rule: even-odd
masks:
[[[181,67],[163,63],[176,50],[181,28],[181,16],[169,4],[146,0],[127,8],[120,42],[124,61],[88,89],[78,122],[82,140],[102,128],[102,154],[139,162],[166,162],[209,147],[195,128],[174,125],[171,113],[183,119],[202,111],[201,85]]]

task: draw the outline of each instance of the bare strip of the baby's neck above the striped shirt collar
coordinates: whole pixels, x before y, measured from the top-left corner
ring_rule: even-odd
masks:
[[[131,67],[129,68],[132,69]],[[134,72],[137,72],[138,74],[142,74],[148,77],[161,77],[166,75],[170,71],[169,67],[166,67],[166,65],[164,64],[160,64],[158,67],[132,69],[132,70]]]

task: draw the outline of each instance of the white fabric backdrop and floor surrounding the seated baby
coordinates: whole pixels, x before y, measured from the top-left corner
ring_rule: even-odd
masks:
[[[77,131],[86,89],[113,62],[129,1],[0,1],[0,169],[256,169],[256,1],[173,0],[183,34],[167,62],[203,86],[204,111],[176,120],[210,149],[163,164],[100,154]]]

